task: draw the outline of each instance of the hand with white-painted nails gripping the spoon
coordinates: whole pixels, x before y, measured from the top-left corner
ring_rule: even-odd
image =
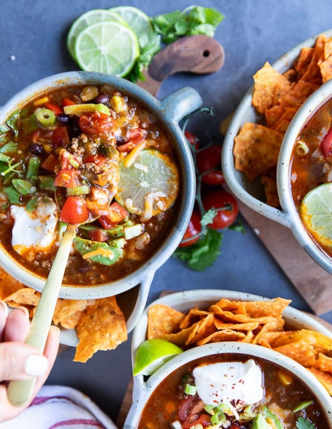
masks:
[[[59,329],[51,327],[42,354],[23,343],[29,326],[29,313],[25,308],[15,309],[8,314],[7,304],[0,301],[0,423],[14,418],[29,405],[14,407],[7,398],[6,382],[37,377],[32,401],[48,377],[57,356]]]

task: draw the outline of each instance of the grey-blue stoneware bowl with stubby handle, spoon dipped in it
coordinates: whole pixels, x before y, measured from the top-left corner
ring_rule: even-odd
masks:
[[[44,91],[76,84],[108,84],[129,97],[140,101],[160,121],[175,147],[179,162],[181,173],[179,209],[169,234],[157,252],[138,270],[112,283],[92,287],[72,287],[66,285],[61,288],[61,298],[97,299],[118,295],[140,284],[139,292],[136,296],[136,304],[127,319],[127,328],[130,331],[144,310],[154,273],[174,252],[186,231],[190,219],[195,198],[195,171],[187,140],[178,122],[184,116],[199,108],[202,105],[202,98],[197,91],[186,87],[162,100],[157,100],[144,89],[122,78],[92,72],[68,72],[39,80],[16,94],[1,108],[0,123],[3,123],[15,110],[29,101],[29,99],[42,94]],[[37,291],[42,291],[45,280],[18,264],[2,246],[0,246],[0,265],[23,284]],[[71,343],[73,342],[74,340],[71,341]]]

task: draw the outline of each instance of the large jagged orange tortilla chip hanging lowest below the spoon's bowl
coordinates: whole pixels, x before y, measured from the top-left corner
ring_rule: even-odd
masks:
[[[125,316],[115,296],[86,307],[76,326],[79,344],[74,361],[86,362],[98,350],[115,349],[127,339]]]

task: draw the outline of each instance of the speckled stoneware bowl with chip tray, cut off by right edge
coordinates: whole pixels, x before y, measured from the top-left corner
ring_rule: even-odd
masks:
[[[323,34],[331,37],[332,30],[328,30]],[[298,57],[300,50],[304,46],[312,46],[315,40],[316,36],[295,46],[272,64],[272,67],[278,72],[284,73]],[[236,171],[234,168],[234,138],[245,122],[260,122],[260,117],[251,104],[252,94],[253,86],[249,89],[234,113],[224,140],[222,166],[226,182],[231,191],[252,210],[290,228],[301,247],[304,248],[311,258],[328,273],[332,273],[332,259],[321,251],[311,239],[296,211],[290,189],[290,159],[296,137],[312,112],[327,98],[331,97],[332,81],[322,85],[306,100],[293,117],[284,136],[277,166],[277,187],[282,210],[277,210],[264,202],[264,189],[258,179],[249,182],[248,178],[242,172]]]

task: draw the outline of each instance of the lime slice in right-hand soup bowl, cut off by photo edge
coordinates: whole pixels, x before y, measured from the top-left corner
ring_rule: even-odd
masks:
[[[318,243],[332,246],[332,183],[312,189],[302,200],[300,215]]]

